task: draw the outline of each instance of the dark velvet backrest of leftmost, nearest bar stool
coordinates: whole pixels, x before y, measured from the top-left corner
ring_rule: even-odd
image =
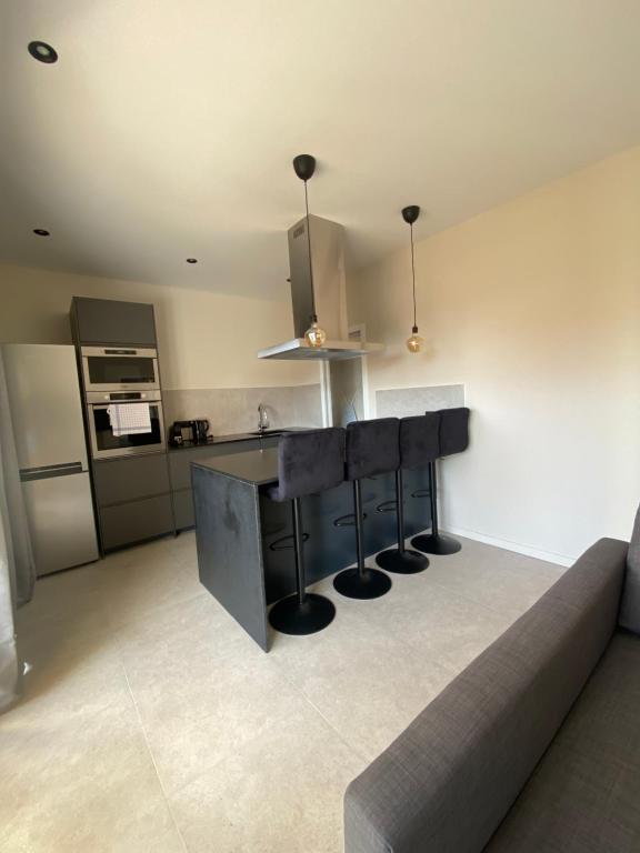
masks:
[[[344,430],[286,433],[278,444],[278,485],[269,491],[273,501],[291,501],[323,492],[344,480]]]

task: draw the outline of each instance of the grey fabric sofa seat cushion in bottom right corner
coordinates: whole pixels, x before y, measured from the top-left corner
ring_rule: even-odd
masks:
[[[640,851],[640,638],[617,633],[486,853]]]

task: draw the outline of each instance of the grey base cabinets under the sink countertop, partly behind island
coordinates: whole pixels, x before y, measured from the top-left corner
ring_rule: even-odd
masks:
[[[173,492],[176,530],[187,530],[196,524],[193,514],[193,490],[191,488],[191,463],[211,456],[227,456],[230,453],[244,453],[278,446],[278,435],[246,441],[229,441],[207,444],[199,448],[181,448],[169,452],[169,474]]]

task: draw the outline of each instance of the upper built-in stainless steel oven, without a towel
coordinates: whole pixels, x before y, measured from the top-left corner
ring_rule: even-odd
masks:
[[[133,347],[82,347],[84,391],[160,389],[158,351]]]

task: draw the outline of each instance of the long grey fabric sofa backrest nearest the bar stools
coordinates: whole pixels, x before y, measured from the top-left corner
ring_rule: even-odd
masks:
[[[479,853],[616,629],[628,545],[603,539],[347,789],[346,853]]]

